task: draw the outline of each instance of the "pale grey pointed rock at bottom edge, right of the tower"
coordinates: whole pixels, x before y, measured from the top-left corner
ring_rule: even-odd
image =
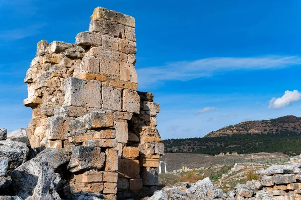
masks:
[[[190,188],[186,190],[186,193],[191,200],[205,198],[206,196],[215,198],[219,195],[219,192],[208,177],[192,183]]]

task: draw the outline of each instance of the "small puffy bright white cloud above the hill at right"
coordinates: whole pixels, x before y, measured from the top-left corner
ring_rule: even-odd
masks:
[[[279,108],[289,105],[290,103],[292,103],[294,101],[299,101],[300,99],[301,99],[301,93],[299,93],[297,90],[293,90],[293,91],[286,90],[282,97],[279,97],[279,98],[273,97],[269,101],[268,108],[279,109]]]

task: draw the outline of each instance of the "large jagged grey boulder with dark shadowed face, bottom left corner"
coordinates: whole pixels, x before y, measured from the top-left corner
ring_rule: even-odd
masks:
[[[33,158],[15,169],[12,174],[15,195],[31,199],[61,199],[56,192],[60,177],[42,158]]]

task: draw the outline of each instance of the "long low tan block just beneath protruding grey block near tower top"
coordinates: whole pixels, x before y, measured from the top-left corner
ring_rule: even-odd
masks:
[[[89,57],[97,57],[107,60],[127,62],[126,54],[120,52],[113,52],[110,50],[104,50],[103,47],[92,47],[90,48],[89,52],[86,53],[86,55]]]

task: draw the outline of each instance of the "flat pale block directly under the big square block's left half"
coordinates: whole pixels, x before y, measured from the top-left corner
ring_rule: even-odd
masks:
[[[54,108],[54,116],[66,117],[80,117],[88,114],[87,108],[78,106],[59,106]]]

